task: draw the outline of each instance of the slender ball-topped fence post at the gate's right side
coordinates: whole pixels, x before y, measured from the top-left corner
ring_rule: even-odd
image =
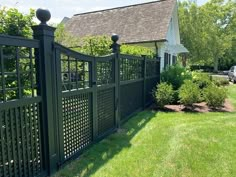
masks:
[[[112,53],[115,54],[115,117],[116,117],[116,128],[120,128],[120,45],[117,44],[119,36],[113,34],[111,36],[113,41],[111,45]]]

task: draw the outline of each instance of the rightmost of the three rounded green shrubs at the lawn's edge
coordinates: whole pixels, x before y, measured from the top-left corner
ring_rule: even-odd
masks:
[[[209,107],[222,107],[227,98],[226,88],[211,84],[203,90],[203,98]]]

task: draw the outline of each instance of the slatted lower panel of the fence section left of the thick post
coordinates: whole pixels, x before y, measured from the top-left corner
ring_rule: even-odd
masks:
[[[2,110],[0,118],[0,176],[39,176],[42,171],[39,103]]]

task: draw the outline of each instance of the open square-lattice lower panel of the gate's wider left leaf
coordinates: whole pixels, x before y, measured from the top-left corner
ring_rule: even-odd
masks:
[[[92,142],[91,93],[65,97],[63,102],[63,136],[65,159]]]

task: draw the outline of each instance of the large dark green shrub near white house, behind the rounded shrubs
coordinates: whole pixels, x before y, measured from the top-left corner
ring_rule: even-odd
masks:
[[[174,90],[178,90],[184,83],[184,80],[191,80],[191,72],[179,65],[170,66],[167,70],[161,73],[161,81],[172,84]]]

